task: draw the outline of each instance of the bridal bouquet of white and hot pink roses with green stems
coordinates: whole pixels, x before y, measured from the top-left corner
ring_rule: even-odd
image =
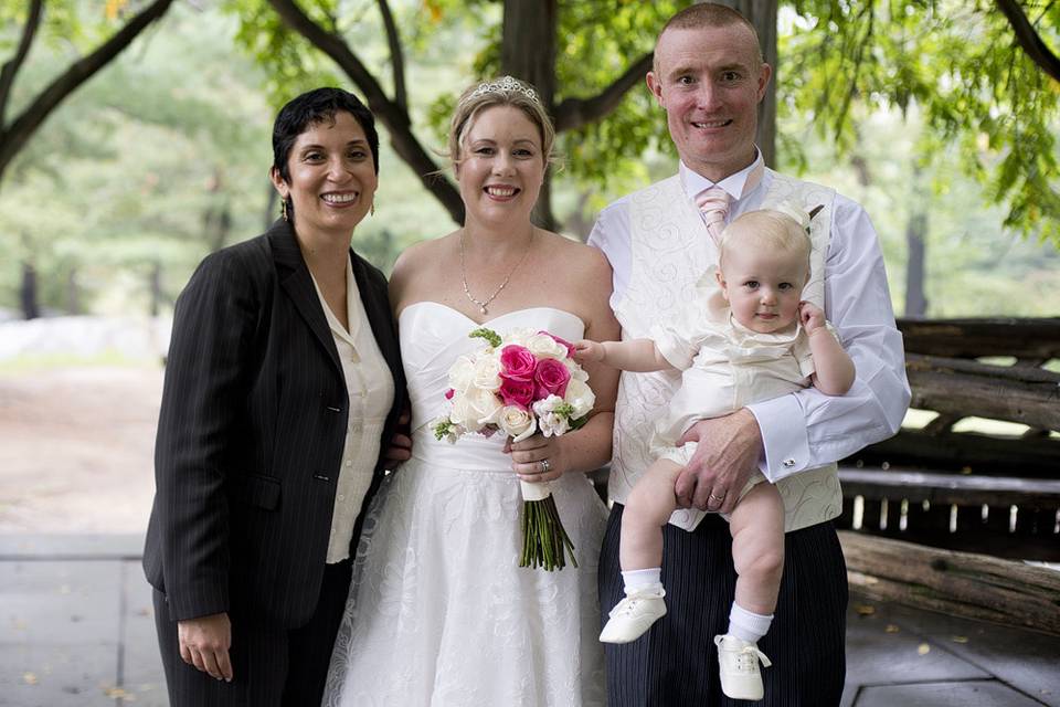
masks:
[[[513,329],[501,337],[475,329],[487,347],[462,356],[449,368],[449,413],[434,421],[438,440],[501,432],[521,442],[536,432],[559,436],[589,420],[596,397],[589,374],[574,361],[574,347],[548,331]],[[577,567],[571,542],[547,483],[519,482],[522,490],[522,558],[519,567],[563,569],[566,556]]]

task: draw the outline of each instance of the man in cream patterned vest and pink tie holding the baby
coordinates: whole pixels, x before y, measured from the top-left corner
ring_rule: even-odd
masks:
[[[847,579],[831,523],[841,508],[834,462],[898,430],[909,386],[868,215],[830,189],[764,168],[754,135],[771,74],[754,28],[738,12],[702,3],[674,15],[659,35],[647,84],[666,110],[681,158],[678,173],[607,207],[589,242],[614,268],[612,307],[623,338],[642,338],[717,263],[714,228],[763,203],[823,204],[812,234],[817,286],[807,298],[824,303],[857,380],[844,397],[810,388],[699,422],[686,434],[685,441],[699,445],[675,489],[690,509],[678,510],[665,528],[669,613],[638,641],[606,646],[613,707],[728,704],[712,639],[727,633],[735,573],[729,528],[716,513],[732,510],[756,467],[777,484],[788,530],[780,600],[759,643],[773,661],[763,672],[763,704],[827,707],[838,705],[842,693]],[[651,462],[653,420],[678,382],[666,373],[623,373],[601,606],[622,598],[622,504]],[[695,509],[716,513],[703,517]]]

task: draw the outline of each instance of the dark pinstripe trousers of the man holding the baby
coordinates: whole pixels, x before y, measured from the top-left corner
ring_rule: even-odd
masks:
[[[600,561],[602,622],[623,597],[618,536],[623,507],[615,504]],[[709,515],[693,532],[664,528],[662,584],[667,614],[624,645],[605,644],[610,707],[736,707],[750,705],[721,692],[717,634],[729,625],[735,591],[729,525]],[[847,573],[831,523],[785,537],[784,579],[770,632],[759,647],[761,707],[831,707],[846,676]]]

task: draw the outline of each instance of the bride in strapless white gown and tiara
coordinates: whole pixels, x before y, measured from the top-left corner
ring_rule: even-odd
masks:
[[[595,414],[561,437],[506,445],[432,435],[447,371],[480,325],[612,340],[611,268],[595,249],[536,228],[530,212],[554,131],[509,76],[464,92],[449,155],[464,228],[405,251],[391,304],[412,400],[412,460],[364,525],[325,704],[603,705],[596,562],[606,510],[585,472],[611,457],[617,373],[586,367]],[[519,479],[549,482],[577,567],[520,568]]]

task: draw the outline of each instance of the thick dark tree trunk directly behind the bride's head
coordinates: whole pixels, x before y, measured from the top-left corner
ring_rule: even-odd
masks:
[[[541,104],[555,116],[556,0],[508,0],[501,27],[500,73],[529,82]],[[533,208],[533,221],[555,230],[552,214],[551,173],[544,177]]]

